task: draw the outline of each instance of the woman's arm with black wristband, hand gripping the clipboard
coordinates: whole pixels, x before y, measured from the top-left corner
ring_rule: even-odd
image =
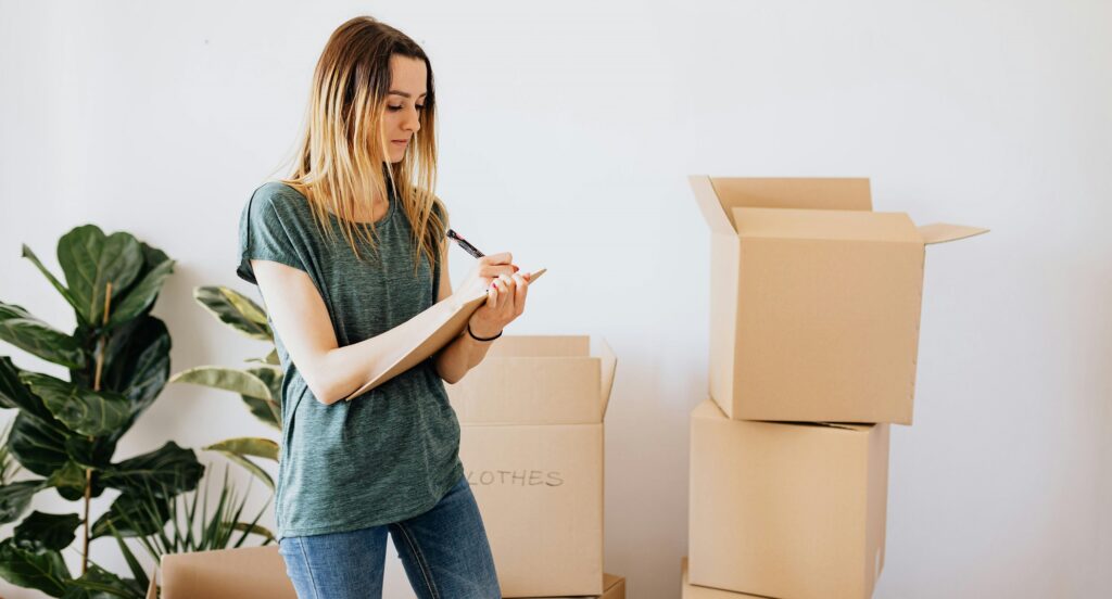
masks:
[[[451,296],[451,280],[448,277],[447,243],[440,252],[440,292],[438,301]],[[464,286],[473,284],[467,280]],[[487,283],[489,284],[489,283]],[[488,338],[502,332],[502,329],[525,310],[525,298],[528,292],[528,280],[522,274],[503,274],[494,281],[493,291],[487,294],[487,302],[476,310],[468,323],[476,336]],[[464,378],[468,370],[478,366],[486,357],[493,341],[478,341],[464,331],[436,355],[436,372],[445,382],[454,383]]]

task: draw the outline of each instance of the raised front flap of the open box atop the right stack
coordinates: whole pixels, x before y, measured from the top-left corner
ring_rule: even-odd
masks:
[[[921,236],[903,212],[734,208],[743,238],[827,239],[920,243]]]

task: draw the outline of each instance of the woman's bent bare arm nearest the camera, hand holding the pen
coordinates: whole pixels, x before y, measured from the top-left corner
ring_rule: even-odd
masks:
[[[480,260],[468,279],[481,281],[512,273],[509,260],[508,253],[489,256]],[[309,390],[325,405],[346,398],[385,372],[413,349],[407,347],[408,340],[423,339],[436,331],[459,301],[456,296],[441,293],[438,298],[441,301],[403,325],[340,348],[328,309],[308,273],[269,260],[251,260],[251,268],[275,332]]]

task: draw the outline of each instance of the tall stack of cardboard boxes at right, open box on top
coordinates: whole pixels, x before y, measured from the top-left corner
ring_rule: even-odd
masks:
[[[985,230],[873,212],[867,179],[691,184],[712,232],[711,399],[691,418],[684,596],[867,599],[924,247]]]

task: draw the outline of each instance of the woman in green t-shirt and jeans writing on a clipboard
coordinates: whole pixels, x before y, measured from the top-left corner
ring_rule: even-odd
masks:
[[[522,315],[528,281],[499,253],[453,294],[435,99],[417,43],[371,18],[344,23],[317,63],[292,176],[240,219],[237,273],[259,287],[285,372],[275,519],[301,598],[379,597],[387,532],[419,597],[499,597],[444,381]],[[349,397],[484,289],[464,333]]]

